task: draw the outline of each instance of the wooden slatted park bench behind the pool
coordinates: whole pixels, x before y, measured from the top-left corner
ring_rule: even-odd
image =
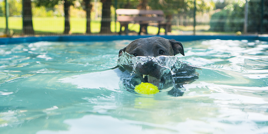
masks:
[[[125,26],[125,34],[128,34],[128,24],[138,23],[140,25],[139,34],[142,28],[145,27],[146,34],[147,26],[154,25],[158,27],[158,33],[160,33],[160,27],[163,26],[165,34],[168,31],[168,23],[164,22],[164,12],[162,10],[138,10],[138,9],[116,9],[117,21],[120,23],[120,32],[122,34],[122,26]]]

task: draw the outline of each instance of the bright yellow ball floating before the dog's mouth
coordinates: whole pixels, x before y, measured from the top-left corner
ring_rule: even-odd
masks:
[[[151,83],[143,83],[143,82],[135,86],[134,91],[141,94],[155,94],[159,92],[157,86],[154,86]]]

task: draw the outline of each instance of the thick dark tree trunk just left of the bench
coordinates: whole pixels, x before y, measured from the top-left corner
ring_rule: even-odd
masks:
[[[111,32],[111,0],[101,0],[102,2],[102,16],[101,16],[101,31],[100,33]]]

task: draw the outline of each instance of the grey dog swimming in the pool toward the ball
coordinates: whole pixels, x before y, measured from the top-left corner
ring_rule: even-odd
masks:
[[[162,37],[149,37],[136,39],[121,49],[119,51],[118,61],[124,60],[120,57],[124,53],[128,53],[133,57],[152,57],[151,59],[153,59],[162,55],[175,56],[181,54],[184,56],[184,49],[182,43],[174,39],[168,40]],[[174,69],[172,71],[173,73],[162,73],[163,66],[159,65],[155,60],[138,63],[134,67],[128,64],[122,64],[121,67],[128,72],[135,70],[134,77],[122,78],[125,89],[131,92],[133,92],[134,86],[139,84],[139,81],[137,81],[139,79],[140,82],[152,83],[160,89],[173,86],[168,94],[177,97],[182,96],[184,93],[183,84],[192,83],[196,79],[199,79],[198,73],[196,72],[197,68],[185,63],[182,63],[179,69]]]

